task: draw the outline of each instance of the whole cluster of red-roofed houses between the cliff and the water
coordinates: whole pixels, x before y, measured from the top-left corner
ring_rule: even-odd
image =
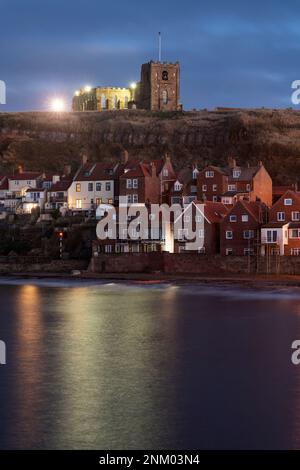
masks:
[[[60,210],[72,214],[104,216],[106,205],[145,206],[177,204],[182,218],[203,217],[201,252],[222,255],[300,254],[300,193],[296,187],[273,187],[262,162],[239,166],[230,158],[224,167],[197,165],[176,171],[170,155],[153,161],[88,162],[72,174],[45,174],[19,169],[0,176],[0,207],[6,212]],[[199,213],[198,204],[202,204]],[[189,208],[189,209],[188,209]],[[193,212],[195,211],[195,213]],[[183,224],[184,226],[184,224]],[[186,250],[185,232],[171,233],[169,251]],[[154,251],[166,247],[153,241],[99,241],[98,251]],[[170,248],[171,247],[171,248]]]

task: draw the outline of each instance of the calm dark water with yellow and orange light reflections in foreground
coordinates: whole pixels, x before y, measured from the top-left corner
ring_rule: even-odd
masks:
[[[10,282],[1,449],[300,447],[300,290]]]

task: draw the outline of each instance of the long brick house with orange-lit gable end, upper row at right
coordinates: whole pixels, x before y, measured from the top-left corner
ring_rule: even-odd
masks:
[[[221,201],[232,205],[243,199],[248,202],[260,201],[272,205],[272,179],[259,162],[256,166],[238,166],[234,159],[221,168],[209,165],[198,174],[198,199]]]

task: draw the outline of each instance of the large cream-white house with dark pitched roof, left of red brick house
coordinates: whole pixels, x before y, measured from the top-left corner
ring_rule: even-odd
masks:
[[[113,204],[118,165],[86,163],[76,173],[68,189],[68,206],[73,211],[95,210]]]

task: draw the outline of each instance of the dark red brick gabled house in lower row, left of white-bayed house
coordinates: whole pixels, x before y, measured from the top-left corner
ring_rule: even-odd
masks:
[[[266,219],[264,204],[237,201],[221,221],[221,255],[255,254],[260,242],[260,227]]]

